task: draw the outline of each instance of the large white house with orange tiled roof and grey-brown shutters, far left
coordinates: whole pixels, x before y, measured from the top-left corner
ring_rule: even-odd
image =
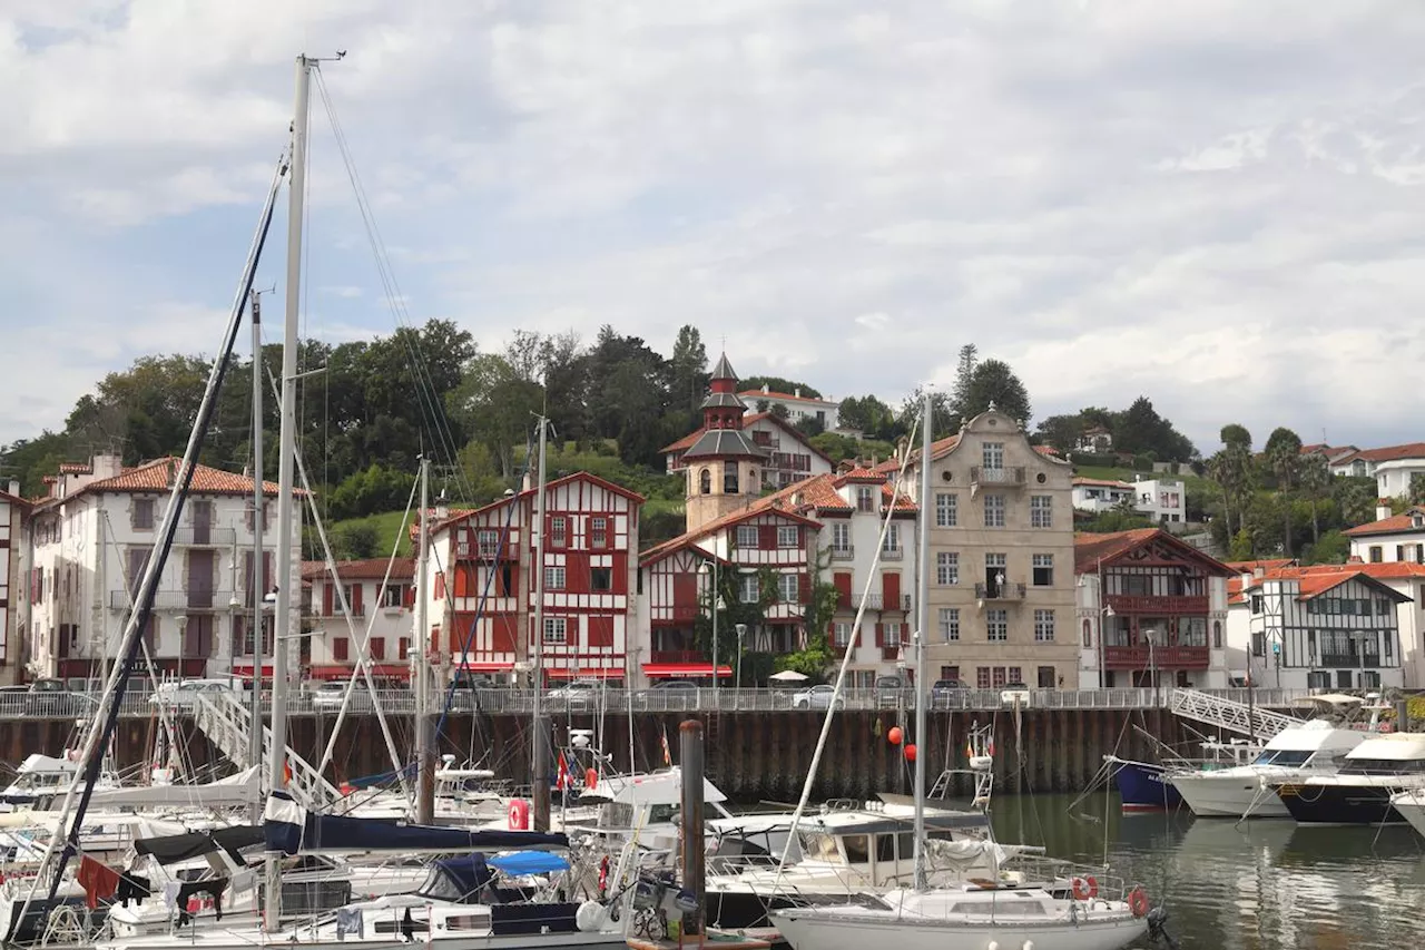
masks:
[[[124,468],[115,455],[97,455],[46,478],[50,495],[30,519],[30,675],[91,679],[117,659],[133,592],[181,464],[161,458]],[[264,492],[275,499],[278,488],[265,482]],[[145,632],[158,675],[251,675],[252,603],[279,582],[272,576],[276,506],[268,501],[264,508],[266,543],[256,583],[252,479],[205,465],[194,471]],[[299,563],[294,541],[294,589]],[[294,630],[299,611],[294,598]],[[271,629],[266,639],[264,656],[271,656]],[[296,672],[295,656],[289,669]]]

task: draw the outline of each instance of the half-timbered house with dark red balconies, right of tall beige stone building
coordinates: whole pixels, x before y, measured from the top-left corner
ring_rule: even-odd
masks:
[[[1079,686],[1228,685],[1231,568],[1166,531],[1074,538]]]

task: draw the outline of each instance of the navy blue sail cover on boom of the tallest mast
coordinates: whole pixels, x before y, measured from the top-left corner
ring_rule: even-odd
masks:
[[[566,834],[542,832],[472,830],[436,824],[408,824],[386,819],[358,819],[308,812],[289,796],[268,797],[262,830],[268,850],[298,852],[473,852],[569,847]]]

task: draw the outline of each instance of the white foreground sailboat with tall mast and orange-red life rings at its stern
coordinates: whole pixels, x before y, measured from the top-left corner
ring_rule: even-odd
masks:
[[[931,496],[931,392],[921,421],[921,499]],[[929,532],[919,533],[921,571],[916,599],[915,688],[925,690],[925,630],[929,619]],[[926,702],[915,703],[915,735],[926,735]],[[1141,887],[1093,877],[1066,884],[1036,884],[1005,876],[990,853],[989,874],[932,887],[926,876],[929,840],[925,829],[925,759],[915,759],[915,837],[911,886],[856,894],[841,904],[817,903],[774,910],[770,917],[794,950],[983,950],[986,946],[1053,950],[1117,950],[1150,930],[1149,899]],[[1007,877],[1007,879],[1006,879]],[[1054,882],[1056,874],[1047,874]],[[1039,877],[1037,880],[1045,880]],[[1113,893],[1117,892],[1117,893]],[[1153,919],[1160,926],[1163,913]]]

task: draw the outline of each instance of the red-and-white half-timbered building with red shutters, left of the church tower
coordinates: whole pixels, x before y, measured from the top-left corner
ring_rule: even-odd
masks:
[[[626,680],[643,496],[587,472],[462,512],[432,532],[430,660],[447,672],[513,675],[534,658],[547,679]],[[544,562],[537,565],[537,532]],[[543,629],[534,589],[543,571]],[[523,666],[520,666],[523,669]]]

